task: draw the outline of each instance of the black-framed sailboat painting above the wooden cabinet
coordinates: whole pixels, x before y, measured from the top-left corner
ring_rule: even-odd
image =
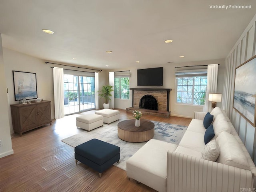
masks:
[[[37,98],[36,74],[30,72],[12,71],[15,101]]]

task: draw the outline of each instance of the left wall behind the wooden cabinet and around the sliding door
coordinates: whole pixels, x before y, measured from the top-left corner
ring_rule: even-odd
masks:
[[[73,69],[68,66],[60,66],[54,64],[46,64],[46,60],[42,60],[39,58],[35,58],[26,54],[22,54],[20,52],[16,52],[7,48],[3,48],[4,55],[4,72],[6,76],[6,85],[4,86],[8,88],[8,105],[17,104],[18,101],[14,99],[14,86],[13,86],[13,76],[12,71],[24,71],[24,72],[32,72],[36,73],[36,84],[37,84],[37,93],[38,98],[43,98],[44,100],[51,101],[51,113],[52,119],[55,118],[54,114],[54,89],[53,89],[53,72],[50,66],[63,67],[66,69]],[[48,61],[50,62],[50,61]],[[54,63],[54,62],[53,62]],[[56,63],[56,62],[55,62]],[[59,63],[59,62],[58,62]],[[59,63],[61,64],[61,63]],[[67,64],[66,64],[67,65]],[[76,70],[76,69],[75,69]],[[99,86],[105,84],[105,72],[102,71],[99,73]],[[103,102],[100,101],[100,104]],[[10,106],[8,106],[8,119],[10,132],[13,133],[12,129],[12,116],[10,111]]]

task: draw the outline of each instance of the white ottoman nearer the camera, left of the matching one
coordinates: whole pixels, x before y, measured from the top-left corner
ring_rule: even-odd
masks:
[[[86,114],[76,118],[76,126],[85,130],[93,130],[103,126],[103,116],[96,114]]]

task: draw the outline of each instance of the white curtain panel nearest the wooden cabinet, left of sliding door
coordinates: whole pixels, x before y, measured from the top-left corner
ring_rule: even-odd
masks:
[[[55,118],[64,117],[64,73],[63,68],[53,68]]]

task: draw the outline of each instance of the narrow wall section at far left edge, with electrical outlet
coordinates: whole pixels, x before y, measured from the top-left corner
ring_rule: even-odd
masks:
[[[10,126],[8,121],[8,98],[6,90],[6,78],[4,74],[4,58],[2,50],[2,37],[0,34],[0,140],[3,140],[4,146],[0,146],[0,158],[13,154],[12,140],[10,135]]]

